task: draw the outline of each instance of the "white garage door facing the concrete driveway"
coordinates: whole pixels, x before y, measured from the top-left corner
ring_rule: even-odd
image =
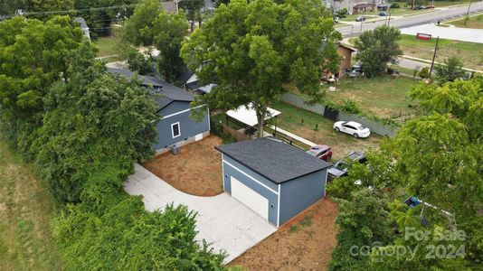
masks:
[[[254,210],[265,220],[269,220],[269,200],[251,190],[231,176],[232,197]]]

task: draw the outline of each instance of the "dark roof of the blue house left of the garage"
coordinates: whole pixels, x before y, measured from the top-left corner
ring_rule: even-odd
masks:
[[[108,68],[108,72],[111,74],[121,75],[128,79],[132,79],[137,74],[136,72],[133,72],[131,70],[118,68]],[[156,98],[156,103],[159,105],[160,109],[166,107],[173,101],[191,102],[194,100],[193,94],[155,76],[137,75],[137,79],[141,81],[141,86],[152,86],[156,93],[160,93],[163,95],[160,98]]]

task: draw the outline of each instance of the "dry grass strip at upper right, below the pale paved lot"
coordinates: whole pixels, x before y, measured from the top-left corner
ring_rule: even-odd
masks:
[[[424,41],[416,39],[413,35],[402,34],[398,43],[405,55],[431,61],[436,38]],[[440,39],[438,47],[436,61],[442,62],[448,57],[456,56],[463,61],[465,68],[483,70],[482,43]]]

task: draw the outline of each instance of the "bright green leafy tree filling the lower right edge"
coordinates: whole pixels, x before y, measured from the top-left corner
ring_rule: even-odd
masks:
[[[409,96],[421,109],[421,117],[406,122],[394,138],[384,141],[381,150],[368,154],[366,164],[355,164],[348,177],[330,184],[329,191],[346,201],[358,202],[354,193],[369,186],[393,197],[387,206],[389,218],[398,225],[393,241],[373,248],[362,266],[371,270],[481,268],[483,231],[476,225],[483,222],[482,82],[477,77],[442,86],[421,83],[412,89]],[[355,180],[360,184],[355,185]],[[403,204],[410,196],[432,207],[410,208]],[[342,209],[341,215],[340,220],[346,217]],[[374,219],[373,223],[380,220],[385,221]],[[355,223],[362,221],[365,218]],[[448,236],[448,229],[463,230],[464,236],[441,239],[441,235]],[[408,230],[429,234],[422,239],[408,237]],[[354,243],[343,235],[337,235],[337,240],[335,251]],[[407,253],[391,253],[402,248]],[[434,249],[440,249],[436,256]],[[346,260],[346,255],[333,255],[336,263]]]

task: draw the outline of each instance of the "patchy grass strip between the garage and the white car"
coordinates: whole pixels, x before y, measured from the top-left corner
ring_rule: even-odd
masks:
[[[336,133],[332,129],[333,122],[329,119],[287,103],[279,102],[271,107],[281,112],[277,117],[279,127],[314,143],[330,145],[334,152],[333,159],[355,150],[377,148],[382,139],[382,136],[374,134],[366,139],[357,139],[351,135]]]

